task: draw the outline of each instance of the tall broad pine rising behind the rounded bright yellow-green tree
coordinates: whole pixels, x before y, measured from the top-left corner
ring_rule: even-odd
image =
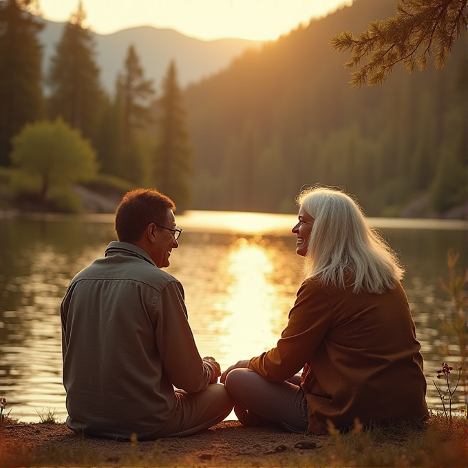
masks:
[[[94,138],[103,94],[94,61],[94,39],[83,28],[85,17],[80,1],[52,57],[47,80],[52,91],[49,113],[51,118],[62,116],[86,138]]]

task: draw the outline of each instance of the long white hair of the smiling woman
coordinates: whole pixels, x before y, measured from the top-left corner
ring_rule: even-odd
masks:
[[[296,201],[314,219],[303,267],[307,278],[320,277],[325,284],[345,288],[351,275],[354,294],[394,289],[403,266],[350,195],[313,187],[299,193]]]

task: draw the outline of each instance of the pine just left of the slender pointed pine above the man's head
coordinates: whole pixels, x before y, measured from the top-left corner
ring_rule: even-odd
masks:
[[[123,138],[119,173],[121,177],[136,183],[141,182],[143,172],[136,131],[151,122],[153,94],[153,81],[145,78],[140,58],[134,45],[130,45],[124,70],[117,78],[116,106],[120,109]]]

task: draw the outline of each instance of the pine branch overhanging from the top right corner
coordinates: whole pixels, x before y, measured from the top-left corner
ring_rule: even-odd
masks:
[[[345,30],[333,36],[334,50],[350,50],[345,67],[352,72],[352,86],[377,85],[397,63],[414,73],[424,70],[434,56],[436,67],[443,67],[454,41],[468,25],[467,0],[400,0],[396,15],[385,21],[372,21],[359,36]],[[361,65],[363,61],[367,61]]]

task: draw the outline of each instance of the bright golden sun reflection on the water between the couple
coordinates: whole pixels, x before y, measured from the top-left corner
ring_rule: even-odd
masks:
[[[257,356],[279,338],[281,330],[275,324],[284,311],[277,306],[277,291],[269,279],[273,268],[266,248],[244,238],[229,253],[226,270],[232,282],[226,304],[220,304],[225,314],[220,323],[222,365]]]

